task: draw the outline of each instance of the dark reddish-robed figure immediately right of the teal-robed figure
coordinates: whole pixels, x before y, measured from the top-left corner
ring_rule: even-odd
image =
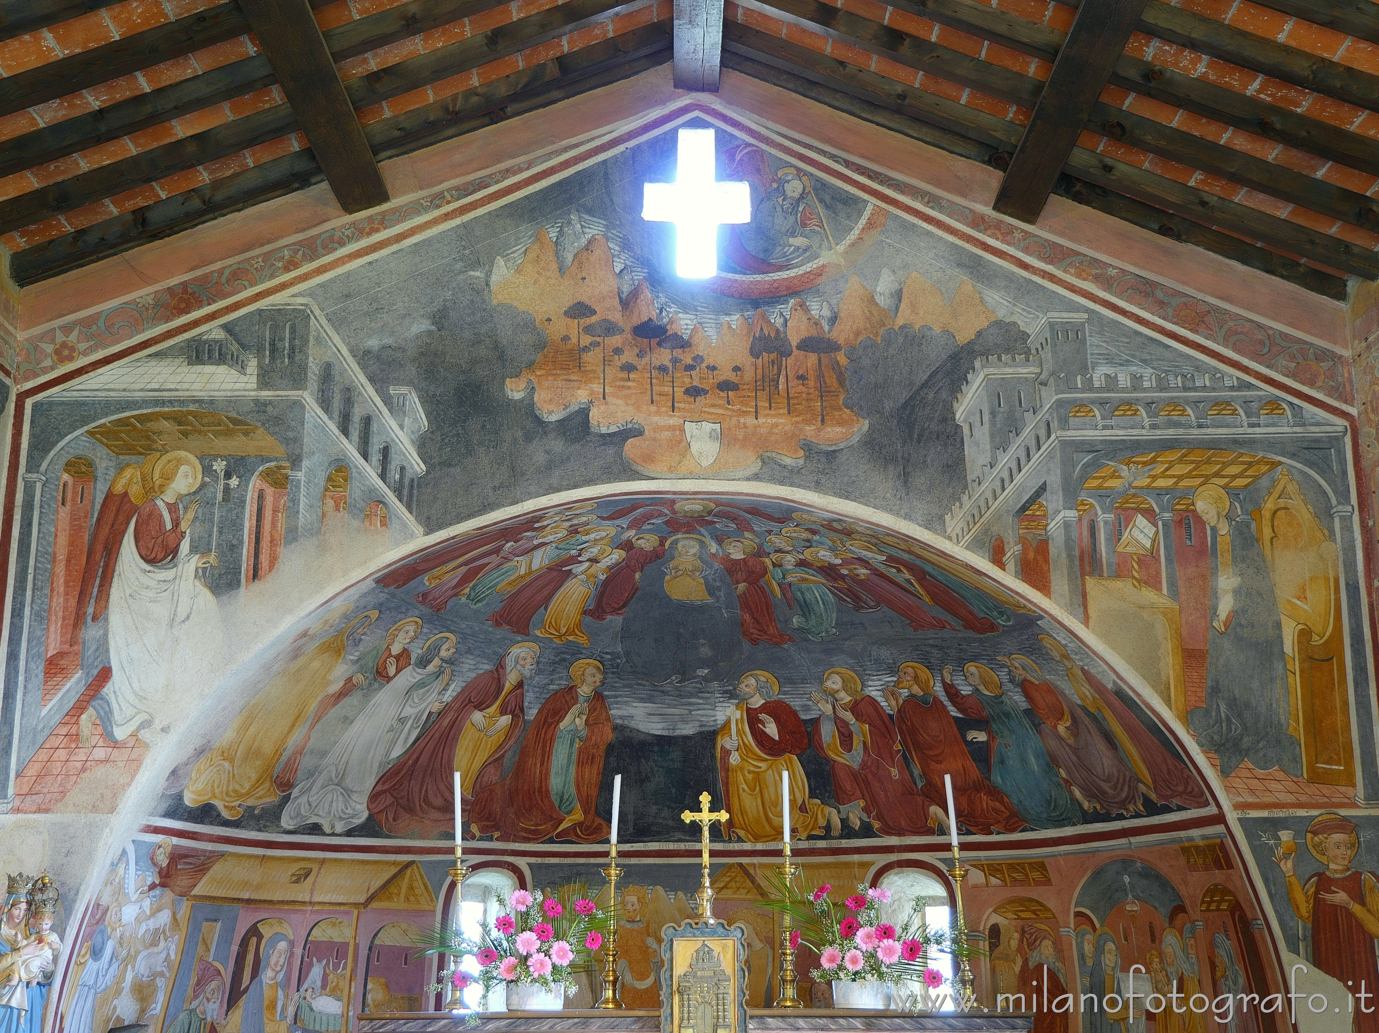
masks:
[[[1020,680],[1025,702],[1040,719],[1040,742],[1073,799],[1087,811],[1110,815],[1143,814],[1135,772],[1106,741],[1096,723],[1045,681],[1034,661],[1015,654],[1000,658]]]

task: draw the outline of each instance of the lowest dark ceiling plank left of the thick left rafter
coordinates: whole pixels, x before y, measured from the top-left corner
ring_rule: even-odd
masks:
[[[294,150],[262,166],[203,183],[194,190],[165,197],[83,230],[17,251],[11,255],[10,269],[15,283],[28,287],[70,269],[123,254],[150,240],[161,240],[222,215],[281,197],[319,183],[324,178],[309,149]]]

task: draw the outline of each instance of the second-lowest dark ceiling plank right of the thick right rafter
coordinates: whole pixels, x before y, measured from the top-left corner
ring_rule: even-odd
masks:
[[[1165,208],[1194,222],[1240,233],[1280,251],[1310,258],[1367,280],[1379,279],[1379,254],[1373,251],[1106,154],[1074,148],[1066,168],[1078,179]]]

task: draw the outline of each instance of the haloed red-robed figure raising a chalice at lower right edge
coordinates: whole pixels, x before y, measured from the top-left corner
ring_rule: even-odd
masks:
[[[1373,872],[1350,867],[1360,852],[1357,825],[1333,811],[1318,814],[1307,826],[1307,850],[1324,867],[1299,883],[1294,855],[1280,847],[1274,861],[1288,883],[1288,903],[1300,921],[1311,925],[1311,960],[1339,979],[1353,994],[1379,990],[1379,881]],[[1356,1033],[1379,1033],[1379,1008],[1365,999],[1354,1011]]]

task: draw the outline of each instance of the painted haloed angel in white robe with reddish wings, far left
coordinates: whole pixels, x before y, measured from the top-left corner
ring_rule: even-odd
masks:
[[[201,499],[201,462],[190,452],[153,452],[121,469],[101,502],[77,593],[76,618],[109,614],[110,681],[79,724],[91,741],[99,719],[110,742],[131,732],[148,739],[167,721],[165,708],[219,663],[221,622],[215,596],[197,571],[219,563],[215,553],[192,553],[190,530]],[[99,578],[99,585],[98,585]],[[80,628],[74,637],[80,637]],[[194,644],[194,648],[188,648]]]

